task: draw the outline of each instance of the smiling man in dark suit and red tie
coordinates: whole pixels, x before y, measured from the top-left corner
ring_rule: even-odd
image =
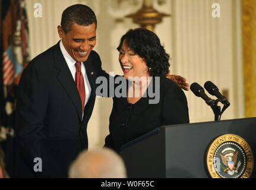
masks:
[[[97,20],[86,5],[72,5],[58,26],[62,39],[34,58],[18,87],[16,176],[67,178],[69,164],[88,147],[87,124],[102,70]]]

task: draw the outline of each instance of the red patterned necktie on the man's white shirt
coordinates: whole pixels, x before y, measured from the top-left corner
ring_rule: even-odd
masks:
[[[75,84],[77,84],[77,89],[79,91],[81,101],[82,101],[82,115],[84,112],[84,103],[86,102],[86,88],[84,87],[84,77],[81,72],[81,62],[75,64]]]

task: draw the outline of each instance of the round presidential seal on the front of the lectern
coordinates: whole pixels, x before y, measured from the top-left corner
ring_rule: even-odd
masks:
[[[206,153],[206,164],[211,178],[249,178],[253,162],[249,144],[234,134],[217,137]]]

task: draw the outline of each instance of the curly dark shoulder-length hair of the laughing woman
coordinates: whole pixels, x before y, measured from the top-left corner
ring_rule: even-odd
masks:
[[[168,74],[170,56],[155,33],[147,29],[131,29],[122,36],[118,51],[124,40],[134,53],[144,59],[148,68],[151,68],[152,77]]]

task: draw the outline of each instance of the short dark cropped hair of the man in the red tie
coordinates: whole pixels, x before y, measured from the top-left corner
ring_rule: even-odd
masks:
[[[89,26],[95,23],[97,28],[97,19],[93,10],[82,4],[72,5],[66,8],[61,17],[61,27],[65,33],[68,33],[71,30],[73,23],[76,23],[81,26]]]

